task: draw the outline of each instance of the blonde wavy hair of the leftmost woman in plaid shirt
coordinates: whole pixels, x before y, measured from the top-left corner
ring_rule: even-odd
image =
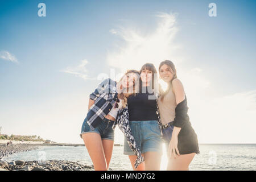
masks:
[[[125,75],[122,76],[122,78],[119,80],[121,82],[123,80],[123,77],[125,77],[129,73],[135,73],[138,77],[135,79],[134,85],[132,86],[133,91],[130,92],[131,86],[129,85],[129,88],[122,88],[122,92],[119,94],[119,97],[123,99],[123,108],[127,106],[127,98],[130,97],[132,94],[135,94],[135,90],[138,87],[138,78],[139,78],[139,72],[135,69],[129,69],[126,71]],[[129,89],[129,92],[127,92]]]

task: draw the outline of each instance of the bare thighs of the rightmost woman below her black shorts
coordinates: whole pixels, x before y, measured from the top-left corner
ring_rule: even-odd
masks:
[[[169,159],[167,171],[187,171],[195,155],[196,153],[184,154],[178,156],[176,159],[172,157]]]

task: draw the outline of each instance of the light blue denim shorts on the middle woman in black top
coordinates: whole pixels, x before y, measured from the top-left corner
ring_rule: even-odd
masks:
[[[142,154],[159,152],[162,155],[162,140],[158,121],[130,121],[131,133]],[[135,155],[125,137],[123,154]]]

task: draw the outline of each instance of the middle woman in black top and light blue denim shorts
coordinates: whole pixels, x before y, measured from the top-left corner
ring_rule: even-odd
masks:
[[[134,96],[127,98],[127,106],[131,133],[145,161],[135,169],[137,156],[129,148],[126,138],[123,154],[129,155],[134,170],[159,170],[162,140],[154,93],[156,69],[153,64],[147,63],[142,66],[139,74],[139,89]]]

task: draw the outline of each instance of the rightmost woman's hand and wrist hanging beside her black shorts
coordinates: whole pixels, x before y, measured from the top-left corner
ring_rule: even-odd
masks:
[[[168,158],[174,157],[176,159],[177,156],[180,156],[180,152],[179,152],[179,150],[177,148],[178,137],[177,137],[177,134],[175,132],[175,128],[176,127],[174,127],[174,132],[172,133],[172,138],[171,138],[169,146],[168,146],[168,153],[167,153],[167,155],[168,155]],[[180,130],[180,128],[176,128],[176,131],[177,130]],[[176,154],[175,151],[177,152],[177,154]]]

